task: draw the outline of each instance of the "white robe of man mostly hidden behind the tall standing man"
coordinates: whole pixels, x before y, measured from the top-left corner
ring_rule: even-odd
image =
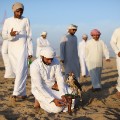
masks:
[[[15,74],[12,70],[12,66],[8,56],[8,44],[9,41],[7,40],[6,41],[4,40],[2,44],[2,58],[5,66],[4,78],[15,78]]]

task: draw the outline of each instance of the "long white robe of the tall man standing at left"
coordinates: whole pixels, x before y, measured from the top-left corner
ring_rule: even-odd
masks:
[[[11,36],[11,29],[18,31],[19,34]],[[13,95],[26,95],[26,79],[27,79],[27,58],[33,54],[31,29],[28,18],[22,17],[17,19],[8,18],[4,22],[2,30],[3,40],[9,40],[8,55],[15,73],[15,85]]]

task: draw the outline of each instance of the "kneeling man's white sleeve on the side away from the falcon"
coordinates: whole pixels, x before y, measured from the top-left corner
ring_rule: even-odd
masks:
[[[39,95],[43,95],[45,98],[49,99],[49,102],[54,100],[53,95],[50,93],[48,89],[43,85],[42,78],[40,72],[35,64],[30,66],[30,75],[31,75],[31,82],[36,86],[36,89],[40,93]]]

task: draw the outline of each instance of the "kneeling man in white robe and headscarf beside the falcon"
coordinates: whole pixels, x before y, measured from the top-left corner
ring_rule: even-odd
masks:
[[[31,91],[35,97],[34,107],[40,107],[49,113],[58,113],[65,110],[68,93],[60,63],[55,58],[55,51],[51,47],[44,47],[30,66]],[[52,87],[57,81],[59,91]],[[70,90],[69,90],[70,91]]]

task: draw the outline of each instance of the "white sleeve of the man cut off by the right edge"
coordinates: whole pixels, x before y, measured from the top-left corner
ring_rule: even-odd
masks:
[[[117,31],[114,31],[110,44],[112,49],[114,50],[115,54],[118,54],[120,52],[119,48],[117,47]]]

